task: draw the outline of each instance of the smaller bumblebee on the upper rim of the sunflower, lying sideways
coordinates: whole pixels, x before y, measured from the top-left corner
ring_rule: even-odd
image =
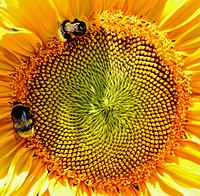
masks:
[[[61,35],[67,40],[72,40],[76,36],[84,35],[86,30],[86,24],[83,21],[79,21],[78,19],[74,19],[74,22],[65,20],[61,24],[60,28]]]

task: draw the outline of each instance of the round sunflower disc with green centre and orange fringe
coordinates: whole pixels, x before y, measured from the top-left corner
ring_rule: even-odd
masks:
[[[37,70],[27,82],[29,146],[46,153],[50,171],[92,186],[136,185],[183,135],[181,61],[166,38],[161,48],[162,36],[149,40],[146,21],[118,20],[101,18],[73,41],[52,39],[28,63]]]

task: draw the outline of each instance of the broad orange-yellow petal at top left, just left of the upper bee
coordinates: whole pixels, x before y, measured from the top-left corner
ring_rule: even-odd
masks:
[[[15,27],[34,32],[44,43],[57,32],[57,16],[48,0],[5,0],[8,20]]]

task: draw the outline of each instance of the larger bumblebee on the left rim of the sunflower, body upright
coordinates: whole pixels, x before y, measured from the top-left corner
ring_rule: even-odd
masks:
[[[12,108],[11,116],[16,140],[33,136],[34,126],[32,116],[29,113],[29,108],[21,103],[16,103]]]

